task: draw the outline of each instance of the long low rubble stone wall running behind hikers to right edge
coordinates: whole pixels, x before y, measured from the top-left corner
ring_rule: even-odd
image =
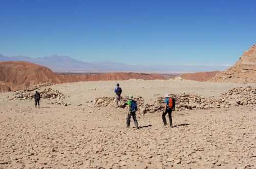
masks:
[[[204,98],[200,95],[191,94],[173,94],[176,100],[176,110],[190,110],[190,109],[210,109],[210,108],[228,108],[229,106],[239,105],[256,105],[256,88],[254,87],[240,87],[227,91],[221,98]],[[153,104],[144,104],[142,97],[137,97],[135,100],[142,114],[146,112],[162,112],[163,111],[163,97],[157,98]],[[121,99],[122,107],[125,106],[127,97]],[[98,106],[114,106],[114,97],[96,98],[95,107]]]

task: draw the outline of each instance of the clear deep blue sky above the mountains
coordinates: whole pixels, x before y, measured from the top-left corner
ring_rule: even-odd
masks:
[[[233,64],[256,43],[256,1],[8,1],[0,53],[86,62]]]

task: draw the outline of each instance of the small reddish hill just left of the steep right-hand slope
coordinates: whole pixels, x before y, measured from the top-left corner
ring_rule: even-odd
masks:
[[[220,71],[184,73],[184,74],[181,74],[180,76],[186,80],[208,81],[211,78],[215,77],[217,73],[220,73]]]

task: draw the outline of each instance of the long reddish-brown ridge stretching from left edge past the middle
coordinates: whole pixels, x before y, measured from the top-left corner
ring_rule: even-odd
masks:
[[[77,81],[164,79],[157,74],[143,73],[100,73],[88,75],[57,74],[49,68],[28,62],[0,62],[0,91],[16,91],[40,83],[65,83]]]

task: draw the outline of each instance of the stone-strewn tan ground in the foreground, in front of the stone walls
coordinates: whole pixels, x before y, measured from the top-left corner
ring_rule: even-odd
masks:
[[[173,113],[174,128],[146,114],[137,130],[121,108],[25,103],[1,105],[0,168],[256,168],[254,107]]]

